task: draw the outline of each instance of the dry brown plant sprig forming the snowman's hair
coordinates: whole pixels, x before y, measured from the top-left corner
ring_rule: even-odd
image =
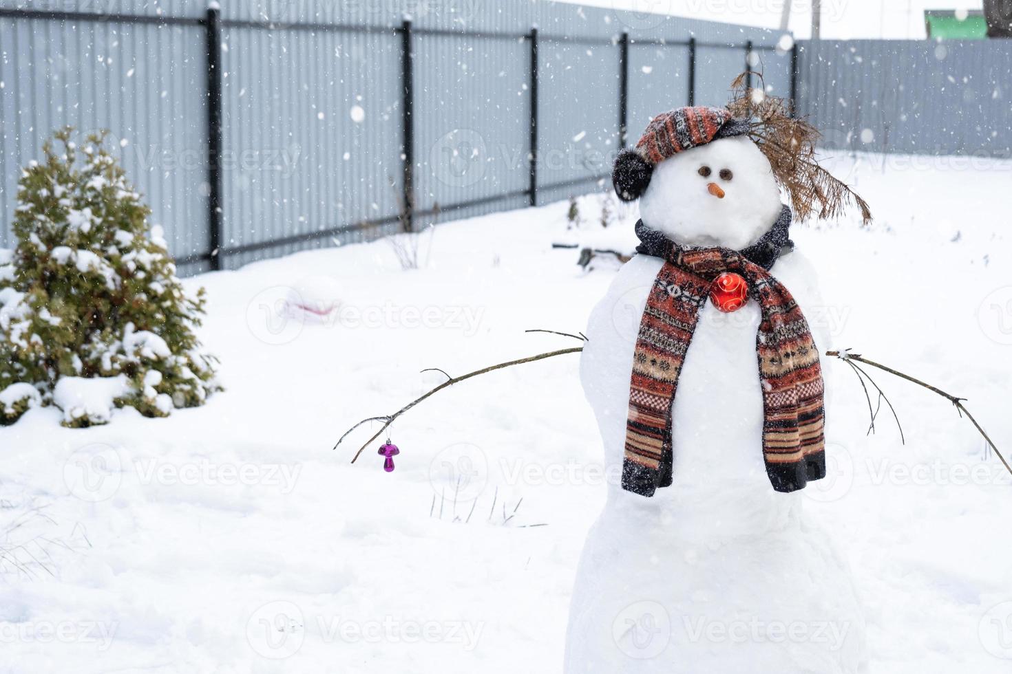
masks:
[[[749,75],[759,80],[758,89],[748,86]],[[773,175],[786,190],[798,218],[829,219],[842,215],[848,206],[857,206],[863,223],[871,222],[867,202],[819,166],[816,160],[819,129],[806,119],[794,117],[788,101],[767,94],[762,75],[742,73],[731,88],[728,109],[735,118],[749,120],[749,137],[769,160]]]

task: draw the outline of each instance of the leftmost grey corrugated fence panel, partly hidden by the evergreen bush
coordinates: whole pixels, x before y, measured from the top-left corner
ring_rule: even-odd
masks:
[[[109,129],[110,149],[176,257],[207,242],[204,34],[199,26],[0,17],[0,246],[17,180],[52,132]],[[176,226],[185,222],[186,226]]]

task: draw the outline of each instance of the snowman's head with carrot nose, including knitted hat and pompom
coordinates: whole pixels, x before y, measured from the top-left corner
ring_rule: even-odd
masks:
[[[704,124],[707,111],[723,110],[681,108],[663,124],[655,119],[637,150],[619,155],[612,180],[619,198],[640,199],[644,224],[676,244],[742,250],[776,221],[780,190],[747,126],[727,116]],[[672,115],[682,116],[671,123]],[[698,129],[684,127],[696,119]]]

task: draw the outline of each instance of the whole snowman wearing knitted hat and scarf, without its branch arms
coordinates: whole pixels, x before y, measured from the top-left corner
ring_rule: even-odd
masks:
[[[566,674],[866,671],[847,563],[803,512],[826,475],[827,340],[805,318],[822,303],[788,237],[774,167],[789,162],[771,163],[757,123],[675,109],[615,162],[641,244],[581,357],[616,479],[580,561]]]

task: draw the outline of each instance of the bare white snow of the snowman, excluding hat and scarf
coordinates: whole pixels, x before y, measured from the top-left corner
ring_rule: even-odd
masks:
[[[702,201],[688,213],[663,203],[671,188],[666,179],[677,180],[686,199],[685,176],[700,162],[716,165],[714,173],[733,165],[736,179],[754,169],[758,151],[754,155],[743,142],[754,150],[747,138],[729,138],[659,165],[641,203],[648,226],[670,229],[666,233],[684,245],[741,249],[753,243],[779,210],[771,177],[773,199],[762,180],[739,181],[743,191],[767,194],[738,207],[748,213],[734,231],[722,232],[724,225],[712,220],[727,219],[723,211],[735,208],[723,197],[723,203]],[[728,185],[729,197],[734,187]],[[712,206],[723,211],[707,213]],[[690,222],[679,223],[679,217]],[[690,232],[700,221],[699,232]],[[741,225],[751,233],[742,234]],[[613,476],[621,474],[636,336],[662,264],[640,255],[624,265],[587,326],[581,379]],[[794,252],[771,273],[811,317],[821,304],[812,266]],[[566,674],[862,671],[863,622],[846,562],[806,520],[804,490],[774,491],[766,476],[759,321],[754,300],[733,313],[709,302],[702,308],[672,410],[673,484],[647,498],[609,481],[577,574]],[[813,325],[822,346],[818,327]]]

